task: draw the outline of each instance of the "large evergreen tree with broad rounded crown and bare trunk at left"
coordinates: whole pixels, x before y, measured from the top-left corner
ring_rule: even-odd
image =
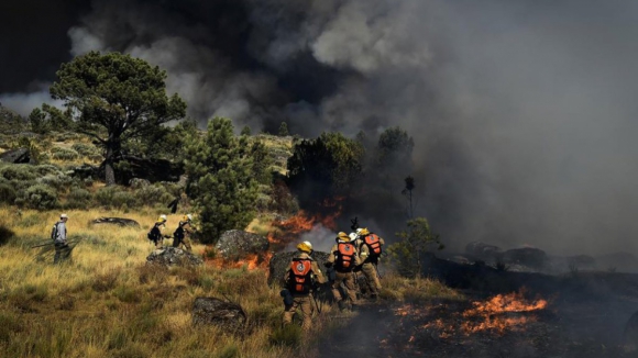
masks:
[[[114,164],[125,142],[147,136],[182,119],[186,103],[166,96],[166,71],[120,53],[90,52],[63,64],[50,88],[77,120],[77,131],[105,148],[107,184],[116,182]]]

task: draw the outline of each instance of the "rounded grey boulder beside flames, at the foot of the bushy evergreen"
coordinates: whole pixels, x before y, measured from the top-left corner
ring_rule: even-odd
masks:
[[[215,245],[217,251],[227,260],[239,260],[250,255],[258,255],[268,249],[270,242],[266,237],[231,230],[223,234]]]

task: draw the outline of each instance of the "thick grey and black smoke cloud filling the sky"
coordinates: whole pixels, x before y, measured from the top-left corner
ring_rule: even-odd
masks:
[[[416,213],[452,246],[636,253],[637,8],[96,0],[68,35],[73,55],[122,51],[165,68],[202,122],[287,121],[305,136],[400,125],[416,144]]]

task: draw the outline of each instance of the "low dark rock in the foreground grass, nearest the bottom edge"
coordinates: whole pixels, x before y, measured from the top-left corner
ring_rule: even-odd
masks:
[[[216,298],[197,298],[193,304],[193,324],[216,325],[237,332],[246,323],[244,310],[235,303]]]

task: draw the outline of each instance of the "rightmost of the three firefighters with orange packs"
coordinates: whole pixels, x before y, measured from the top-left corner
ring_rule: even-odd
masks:
[[[378,235],[371,233],[367,227],[356,230],[356,248],[361,258],[361,271],[365,276],[370,297],[375,300],[381,292],[381,280],[378,276],[378,259],[385,242]]]

